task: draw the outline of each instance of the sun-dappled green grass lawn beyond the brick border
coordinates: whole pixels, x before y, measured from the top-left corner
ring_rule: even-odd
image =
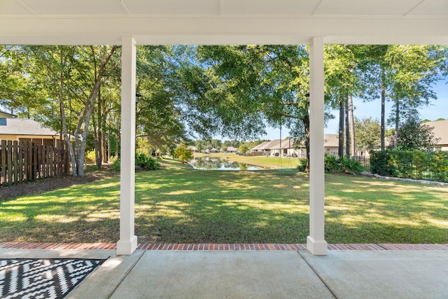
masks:
[[[307,174],[216,172],[165,160],[136,175],[139,242],[304,243]],[[448,243],[448,188],[325,176],[330,243]],[[0,242],[116,242],[119,179],[1,202]]]

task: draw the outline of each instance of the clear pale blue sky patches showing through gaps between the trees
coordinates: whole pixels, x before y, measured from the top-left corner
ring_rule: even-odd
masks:
[[[420,118],[428,120],[436,120],[437,118],[448,119],[448,84],[446,84],[448,78],[443,81],[439,81],[434,86],[434,91],[437,94],[437,99],[433,100],[428,106],[423,106],[420,110]],[[353,105],[355,106],[354,115],[356,118],[377,118],[381,117],[381,102],[379,99],[372,102],[363,102],[362,99],[353,99]],[[392,104],[386,102],[386,118],[390,113]],[[337,116],[338,111],[334,111],[333,115]],[[325,134],[337,134],[337,127],[339,119],[334,118],[328,122],[328,126],[325,128]],[[279,139],[279,129],[267,128],[267,134],[261,139]],[[282,137],[287,136],[287,132],[281,132]]]

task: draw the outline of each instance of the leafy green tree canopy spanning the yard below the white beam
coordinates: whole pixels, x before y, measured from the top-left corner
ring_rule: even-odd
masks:
[[[306,45],[139,46],[137,144],[172,153],[179,144],[221,135],[235,141],[224,146],[239,147],[269,125],[286,128],[309,150],[308,51]],[[371,148],[377,123],[349,120],[349,111],[356,112],[349,100],[381,99],[384,147],[389,101],[399,147],[409,111],[436,99],[433,85],[448,74],[447,57],[447,46],[326,45],[325,119],[339,109],[351,125],[351,134],[340,137],[346,147],[356,139],[358,150]],[[87,151],[95,151],[97,165],[119,153],[120,76],[117,46],[0,46],[0,106],[65,137],[75,175],[83,175]],[[363,130],[371,126],[367,138]]]

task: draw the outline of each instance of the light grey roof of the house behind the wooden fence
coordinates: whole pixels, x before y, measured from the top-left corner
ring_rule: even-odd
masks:
[[[3,125],[3,122],[6,123]],[[49,135],[55,136],[55,130],[45,127],[36,120],[21,118],[3,118],[0,125],[0,134],[5,135]]]

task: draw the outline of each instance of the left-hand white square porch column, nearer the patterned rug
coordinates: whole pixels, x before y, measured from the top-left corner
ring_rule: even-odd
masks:
[[[121,53],[120,240],[117,254],[137,249],[134,235],[136,42],[123,36]]]

